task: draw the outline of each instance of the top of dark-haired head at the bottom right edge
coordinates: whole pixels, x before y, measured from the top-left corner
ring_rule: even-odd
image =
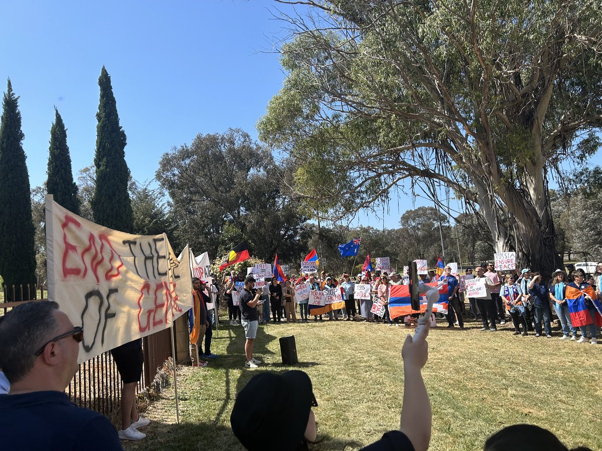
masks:
[[[571,451],[591,451],[586,447]],[[495,432],[485,441],[483,451],[568,451],[556,435],[535,425],[512,425]]]

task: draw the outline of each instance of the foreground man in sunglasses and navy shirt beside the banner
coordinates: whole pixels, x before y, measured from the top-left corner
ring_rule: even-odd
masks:
[[[122,450],[107,417],[77,407],[64,393],[78,369],[82,327],[53,301],[27,302],[0,317],[0,437],[7,450]]]

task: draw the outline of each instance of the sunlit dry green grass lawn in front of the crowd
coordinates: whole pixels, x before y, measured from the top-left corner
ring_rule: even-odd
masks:
[[[440,326],[445,325],[439,321]],[[226,322],[227,324],[227,322]],[[433,409],[432,450],[478,450],[492,432],[515,423],[548,428],[568,447],[602,449],[602,345],[534,336],[514,328],[481,332],[438,327],[429,336],[423,375]],[[314,384],[321,449],[349,441],[369,444],[399,428],[403,396],[401,349],[409,328],[364,322],[280,324],[259,327],[259,369],[243,369],[244,332],[225,325],[214,332],[209,367],[178,368],[180,423],[173,384],[151,403],[148,437],[126,450],[238,450],[230,429],[236,393],[259,371],[305,370]],[[412,329],[413,333],[413,329]],[[294,335],[300,364],[281,363],[278,338]],[[257,393],[257,402],[261,402]],[[286,419],[273,419],[275,427]]]

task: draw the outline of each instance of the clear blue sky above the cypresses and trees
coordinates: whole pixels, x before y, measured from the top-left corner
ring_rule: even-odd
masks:
[[[10,77],[20,96],[32,187],[46,180],[54,105],[67,127],[74,175],[92,164],[103,65],[128,137],[126,161],[138,182],[151,180],[160,156],[197,133],[240,127],[256,138],[256,121],[282,87],[273,52],[282,23],[268,0],[0,5],[0,88],[5,91]],[[399,215],[392,203],[386,227],[396,227]],[[353,222],[359,221],[383,225],[374,215]]]

